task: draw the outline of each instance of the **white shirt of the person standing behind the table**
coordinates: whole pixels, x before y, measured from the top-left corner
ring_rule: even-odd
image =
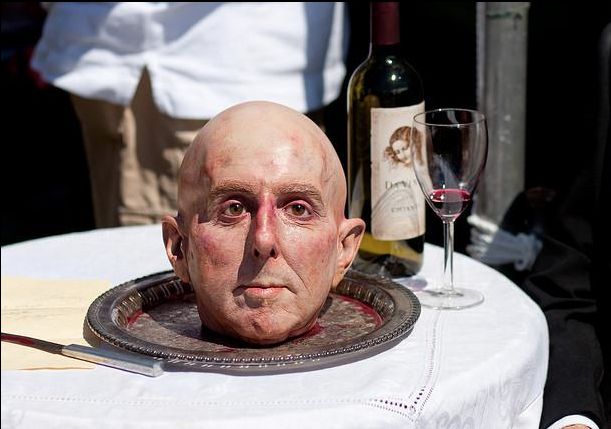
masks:
[[[128,105],[142,70],[158,108],[209,118],[247,100],[306,112],[339,95],[341,2],[49,3],[32,67],[85,98]]]

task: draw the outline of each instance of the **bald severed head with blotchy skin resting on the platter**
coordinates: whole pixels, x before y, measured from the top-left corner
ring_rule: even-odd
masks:
[[[284,106],[249,102],[211,120],[163,220],[170,262],[204,326],[256,344],[307,331],[352,263],[364,223],[324,133]]]

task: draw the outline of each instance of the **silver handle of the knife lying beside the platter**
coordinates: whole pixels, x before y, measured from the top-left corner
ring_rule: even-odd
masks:
[[[79,344],[70,344],[62,348],[64,356],[87,362],[135,372],[149,377],[158,377],[163,374],[163,366],[160,361],[147,356],[128,353],[81,346]]]

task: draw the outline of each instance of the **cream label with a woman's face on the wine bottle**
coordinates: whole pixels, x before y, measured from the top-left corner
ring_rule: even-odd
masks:
[[[425,202],[413,162],[423,162],[425,145],[413,160],[412,118],[424,102],[371,109],[371,233],[378,240],[406,240],[424,234]]]

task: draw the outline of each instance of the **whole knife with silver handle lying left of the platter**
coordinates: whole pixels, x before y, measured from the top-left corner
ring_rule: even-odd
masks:
[[[119,352],[109,349],[81,346],[79,344],[52,343],[38,338],[26,337],[2,332],[2,341],[32,347],[45,352],[68,356],[75,359],[92,362],[98,365],[135,372],[137,374],[157,377],[163,374],[161,361],[148,356],[141,356],[130,352]]]

